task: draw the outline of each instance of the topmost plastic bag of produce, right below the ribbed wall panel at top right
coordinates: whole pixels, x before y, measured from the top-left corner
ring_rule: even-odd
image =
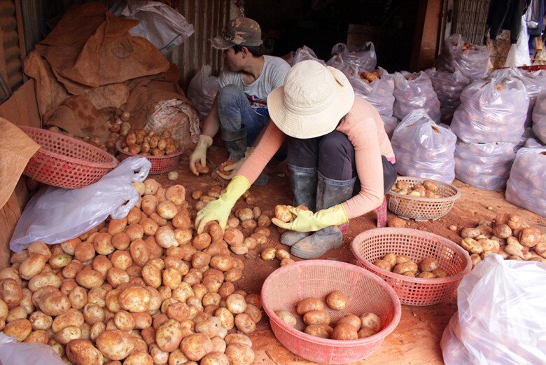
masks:
[[[451,34],[442,45],[442,53],[435,61],[441,71],[461,71],[470,81],[483,78],[487,74],[489,51],[486,46],[470,44],[461,34]]]

